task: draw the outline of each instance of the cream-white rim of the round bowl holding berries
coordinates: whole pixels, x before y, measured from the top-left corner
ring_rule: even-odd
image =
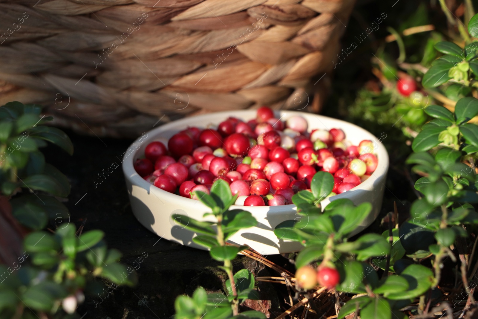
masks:
[[[211,113],[196,115],[196,118],[197,118],[197,120],[201,121],[203,124],[204,124],[204,122],[202,120],[205,120],[209,124],[209,123],[211,123],[211,121],[208,118],[211,115],[214,115],[214,116],[223,115],[224,119],[226,119],[230,116],[235,116],[235,117],[240,118],[241,115],[242,115],[242,117],[247,118],[247,117],[250,117],[250,115],[255,113],[255,112],[256,112],[256,110],[230,110],[230,111],[211,112]],[[335,119],[335,118],[331,118],[331,117],[326,117],[326,116],[319,115],[319,114],[308,113],[308,112],[300,112],[300,111],[290,111],[290,110],[278,110],[278,111],[274,111],[274,112],[276,114],[279,113],[279,115],[281,115],[281,118],[283,116],[285,116],[286,114],[291,114],[291,116],[296,116],[296,115],[305,116],[306,118],[310,117],[310,116],[315,116],[322,123],[322,125],[324,125],[325,127],[326,127],[326,125],[324,124],[323,121],[331,121],[332,120],[332,121],[338,123],[338,125],[341,125],[340,127],[336,127],[336,128],[343,129],[344,126],[348,126],[350,128],[362,131],[365,134],[369,134],[371,137],[373,137],[375,139],[375,141],[377,141],[377,143],[376,143],[377,144],[376,154],[377,154],[377,158],[378,158],[378,166],[377,166],[376,170],[372,173],[372,175],[367,180],[365,180],[364,182],[360,183],[358,186],[356,186],[356,187],[354,187],[350,190],[367,190],[367,189],[373,188],[372,185],[375,182],[375,180],[379,180],[380,183],[383,183],[380,180],[380,178],[387,174],[387,171],[388,171],[388,168],[389,168],[389,156],[388,156],[387,150],[385,149],[385,146],[383,145],[383,143],[378,142],[377,137],[375,135],[373,135],[372,133],[370,133],[369,131],[365,130],[362,127],[359,127],[358,125],[352,124],[350,122]],[[183,130],[182,128],[177,129],[177,127],[178,126],[181,127],[181,124],[183,124],[184,122],[186,123],[186,125],[189,124],[191,119],[193,119],[193,118],[192,117],[185,117],[185,118],[182,118],[182,119],[179,119],[179,120],[176,120],[176,121],[171,121],[171,122],[163,124],[163,125],[161,125],[157,128],[154,128],[154,129],[152,129],[148,132],[145,132],[145,133],[147,133],[147,136],[144,138],[144,141],[142,141],[140,143],[140,147],[138,147],[136,149],[133,146],[134,143],[136,143],[136,140],[133,143],[131,143],[129,148],[132,148],[133,151],[131,153],[125,152],[125,154],[123,155],[122,168],[123,168],[123,173],[125,175],[125,178],[127,178],[132,185],[145,188],[148,191],[148,193],[152,192],[156,197],[161,196],[161,197],[165,198],[165,200],[167,200],[167,201],[173,201],[173,202],[177,201],[178,206],[192,207],[193,205],[195,205],[198,202],[198,200],[195,200],[195,199],[192,199],[192,198],[185,198],[185,197],[182,197],[180,195],[176,195],[174,193],[167,192],[167,191],[165,191],[165,190],[163,190],[159,187],[156,187],[156,186],[148,183],[138,173],[136,173],[136,171],[134,170],[134,167],[133,167],[133,161],[137,157],[137,154],[141,150],[141,146],[143,146],[143,144],[147,145],[147,144],[151,143],[152,141],[158,140],[158,138],[161,137],[160,133],[163,132],[163,131],[173,129],[173,131],[179,132],[180,130]],[[204,124],[204,125],[206,125],[206,124]],[[337,125],[337,124],[334,124],[334,125]],[[189,126],[191,126],[191,125],[189,124]],[[310,128],[308,128],[308,130],[310,130]],[[370,138],[364,138],[364,139],[370,139]],[[166,145],[166,147],[167,147],[167,145]],[[375,178],[372,178],[372,177],[375,177]],[[336,200],[336,199],[340,199],[340,198],[348,198],[347,193],[348,192],[344,192],[342,194],[337,194],[335,196],[332,196],[330,198],[326,198],[324,200],[328,200],[327,201],[327,204],[328,204],[328,202],[332,201],[332,200]],[[159,199],[159,197],[158,197],[158,199]],[[204,207],[206,207],[206,206],[204,206]],[[238,206],[238,205],[232,205],[231,209],[245,209],[245,207],[247,207],[247,210],[250,210],[251,212],[257,212],[257,213],[260,213],[260,212],[285,212],[285,211],[291,211],[291,210],[295,209],[294,204],[281,205],[281,206]],[[198,207],[196,206],[195,208],[197,209]],[[265,209],[267,209],[267,210],[265,210]]]

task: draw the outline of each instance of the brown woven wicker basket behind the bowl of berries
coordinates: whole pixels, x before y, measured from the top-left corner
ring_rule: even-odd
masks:
[[[134,136],[197,112],[318,112],[354,0],[0,0],[0,105]],[[325,76],[324,76],[325,75]]]

